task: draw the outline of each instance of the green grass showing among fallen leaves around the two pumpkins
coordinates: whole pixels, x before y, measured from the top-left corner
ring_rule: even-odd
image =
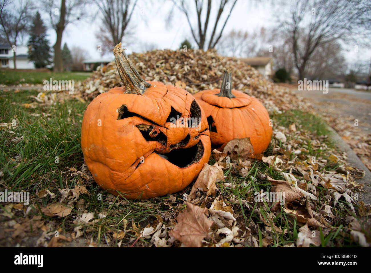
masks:
[[[84,200],[85,210],[93,212],[95,216],[99,213],[106,213],[107,215],[107,217],[97,221],[93,227],[82,225],[83,237],[93,238],[99,246],[108,241],[110,241],[109,244],[112,244],[112,240],[114,240],[112,239],[112,233],[125,230],[125,226],[130,226],[132,221],[137,225],[139,223],[141,227],[145,227],[156,219],[154,214],[168,213],[178,207],[178,210],[174,210],[175,213],[175,211],[184,208],[181,194],[177,194],[177,200],[174,203],[163,202],[168,196],[152,198],[148,202],[119,199],[103,192],[94,182],[86,182],[78,175],[74,175],[70,168],[81,170],[83,164],[80,134],[82,114],[88,103],[69,100],[53,106],[38,105],[35,109],[24,108],[23,103],[32,102],[29,96],[36,96],[37,93],[38,91],[16,93],[0,91],[0,122],[10,123],[13,119],[17,120],[16,128],[12,129],[16,135],[6,130],[0,131],[0,171],[4,173],[4,185],[8,190],[30,191],[33,200],[30,206],[33,207],[33,210],[30,211],[29,216],[42,216],[46,222],[53,220],[56,225],[62,228],[63,232],[71,233],[77,225],[73,222],[76,213],[78,213],[76,206],[69,216],[63,218],[45,216],[41,213],[40,208],[58,201],[60,197],[58,189],[74,188],[76,185],[83,184],[89,192],[79,197]],[[274,115],[272,119],[275,128],[276,126],[287,127],[295,123],[298,129],[315,132],[319,139],[322,139],[328,145],[328,149],[332,145],[328,138],[323,137],[323,135],[328,134],[325,123],[314,115],[293,110],[286,111],[285,114]],[[11,141],[14,136],[23,136],[24,140],[14,144]],[[298,136],[294,133],[289,135],[289,139],[295,138],[298,138]],[[324,158],[328,156],[328,149],[312,147],[310,139],[303,138],[300,140],[302,141],[301,147],[308,150],[308,152],[304,151],[302,153],[303,158],[313,155],[323,156]],[[266,154],[270,154],[271,151],[272,147],[269,147]],[[55,161],[56,157],[59,159],[58,162]],[[214,160],[210,159],[209,163],[213,164]],[[334,170],[336,167],[336,165],[329,163],[326,169]],[[282,206],[280,206],[278,212],[275,212],[272,219],[268,219],[272,206],[266,202],[259,206],[255,202],[250,208],[243,205],[242,200],[254,198],[254,192],[270,190],[271,183],[260,180],[259,173],[267,174],[274,179],[283,179],[279,171],[276,171],[272,166],[268,166],[262,161],[253,161],[253,167],[246,177],[232,175],[230,169],[224,170],[224,175],[227,176],[226,182],[232,182],[236,187],[224,187],[221,183],[218,183],[220,190],[218,195],[233,206],[234,213],[237,214],[239,219],[242,219],[246,226],[251,227],[251,230],[256,230],[260,246],[263,245],[263,228],[267,226],[262,219],[269,223],[268,226],[273,230],[276,226],[286,231],[282,234],[275,233],[273,247],[296,242],[299,224],[283,210]],[[48,189],[55,193],[56,198],[51,199],[49,195],[44,198],[37,197],[37,192],[42,189]],[[185,192],[189,193],[189,191],[190,187]],[[321,193],[322,197],[328,194],[328,190],[321,186],[317,186],[317,191]],[[100,196],[102,198],[99,198]],[[236,202],[229,201],[233,196]],[[321,202],[327,201],[325,198],[321,198]],[[338,207],[333,210],[335,219],[330,223],[332,228],[328,228],[328,232],[322,234],[322,246],[358,246],[350,239],[347,223],[345,223],[345,217],[351,212],[347,209],[345,202],[339,200],[339,205],[342,204],[344,204],[344,208],[340,209]],[[4,208],[2,204],[0,204],[0,208]],[[259,215],[259,211],[261,215]],[[23,217],[23,213],[18,213],[10,219],[0,218],[0,224],[9,220],[19,221]],[[172,218],[175,217],[175,214],[172,215]],[[123,245],[130,246],[129,239],[131,237],[134,237],[134,235],[127,233]],[[145,246],[148,241],[139,239],[137,245]]]

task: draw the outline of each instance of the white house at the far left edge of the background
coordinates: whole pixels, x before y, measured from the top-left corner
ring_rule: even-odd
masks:
[[[28,58],[28,46],[14,47],[16,51],[17,69],[35,69],[35,64]],[[9,45],[0,45],[1,68],[14,68],[13,48]]]

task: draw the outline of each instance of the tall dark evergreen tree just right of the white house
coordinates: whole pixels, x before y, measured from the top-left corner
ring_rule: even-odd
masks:
[[[30,29],[29,58],[35,63],[36,68],[43,68],[50,64],[50,47],[46,39],[46,27],[41,20],[39,11],[32,20]]]

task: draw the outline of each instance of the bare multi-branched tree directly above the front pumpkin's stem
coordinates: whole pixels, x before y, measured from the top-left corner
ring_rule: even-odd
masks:
[[[128,24],[138,0],[95,0],[102,13],[102,27],[96,38],[102,43],[102,55],[112,52],[128,34]]]

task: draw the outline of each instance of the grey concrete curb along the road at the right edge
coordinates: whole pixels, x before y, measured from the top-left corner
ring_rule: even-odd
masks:
[[[344,140],[339,136],[337,132],[334,131],[331,127],[328,129],[332,132],[329,134],[329,137],[335,141],[336,146],[341,149],[341,151],[347,152],[348,155],[348,163],[352,167],[357,167],[365,171],[365,176],[362,178],[357,178],[357,183],[363,184],[362,192],[359,194],[359,201],[363,201],[365,204],[371,204],[371,172],[368,168],[363,164],[361,159],[357,157],[357,155],[353,152],[353,150],[349,147],[348,144],[344,142]]]

